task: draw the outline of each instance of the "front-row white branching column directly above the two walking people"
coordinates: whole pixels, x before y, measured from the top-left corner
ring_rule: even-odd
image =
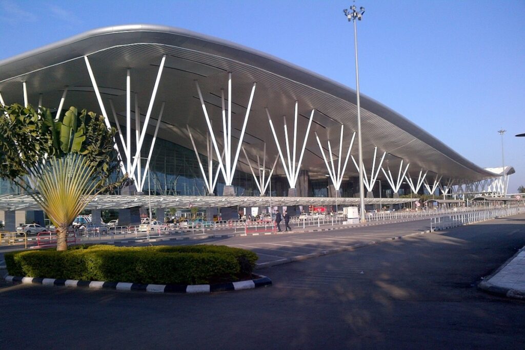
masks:
[[[277,138],[277,134],[275,132],[274,123],[271,121],[270,112],[268,112],[268,108],[265,108],[266,115],[268,116],[268,122],[270,123],[271,132],[274,135],[275,144],[277,146],[277,150],[279,151],[279,157],[282,162],[282,167],[285,169],[286,178],[288,180],[288,184],[290,185],[290,189],[295,189],[297,179],[299,177],[299,171],[301,169],[301,163],[302,158],[304,156],[304,149],[306,148],[306,142],[308,140],[308,134],[310,133],[310,127],[312,125],[313,120],[313,114],[316,110],[312,110],[310,114],[310,119],[308,121],[308,127],[306,129],[306,135],[304,135],[304,142],[301,148],[301,154],[299,156],[299,161],[296,163],[296,154],[297,154],[297,110],[298,104],[295,103],[295,118],[293,123],[293,148],[291,150],[292,156],[290,156],[290,143],[288,139],[288,128],[286,126],[286,118],[284,119],[284,126],[285,126],[285,142],[286,142],[286,150],[287,150],[287,158],[288,162],[285,160],[285,157],[282,155],[282,149],[279,144],[279,139]]]

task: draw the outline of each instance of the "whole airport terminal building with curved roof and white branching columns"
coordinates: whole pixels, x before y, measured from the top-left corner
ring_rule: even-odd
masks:
[[[0,103],[103,115],[118,129],[122,173],[159,208],[267,205],[261,194],[275,205],[359,196],[354,90],[192,31],[106,27],[0,61]],[[361,120],[368,203],[423,191],[505,195],[512,167],[480,168],[363,95]],[[127,191],[126,200],[90,207],[130,207]],[[0,180],[0,214],[35,209]]]

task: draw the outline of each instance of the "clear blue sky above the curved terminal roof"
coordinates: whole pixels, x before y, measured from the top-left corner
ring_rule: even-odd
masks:
[[[254,48],[355,89],[352,1],[0,0],[0,60],[90,29],[180,27]],[[363,94],[480,167],[525,186],[525,1],[358,0]]]

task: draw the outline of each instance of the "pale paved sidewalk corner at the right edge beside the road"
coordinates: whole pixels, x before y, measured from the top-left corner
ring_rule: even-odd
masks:
[[[525,247],[479,283],[478,288],[502,297],[525,299]]]

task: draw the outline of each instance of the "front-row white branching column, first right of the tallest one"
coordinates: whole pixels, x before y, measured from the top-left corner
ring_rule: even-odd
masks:
[[[228,119],[226,122],[226,106],[224,101],[224,91],[221,90],[222,97],[222,116],[223,116],[223,133],[224,133],[224,154],[225,161],[223,162],[222,157],[220,156],[219,146],[215,138],[215,133],[212,128],[212,123],[208,115],[206,104],[204,103],[204,98],[202,96],[201,87],[198,84],[198,81],[195,80],[195,86],[197,87],[197,93],[199,100],[201,100],[201,106],[204,113],[204,118],[206,119],[206,124],[208,125],[209,135],[212,137],[213,148],[215,149],[215,154],[219,161],[219,169],[223,173],[226,186],[232,186],[233,178],[235,175],[235,170],[237,167],[237,161],[239,159],[240,149],[243,146],[244,134],[246,132],[246,125],[248,123],[248,117],[250,115],[251,103],[254,99],[255,87],[257,83],[254,82],[251,87],[250,99],[248,101],[248,106],[246,108],[246,114],[244,117],[243,127],[240,132],[239,143],[237,145],[237,150],[235,152],[233,161],[232,161],[232,73],[228,74]]]

